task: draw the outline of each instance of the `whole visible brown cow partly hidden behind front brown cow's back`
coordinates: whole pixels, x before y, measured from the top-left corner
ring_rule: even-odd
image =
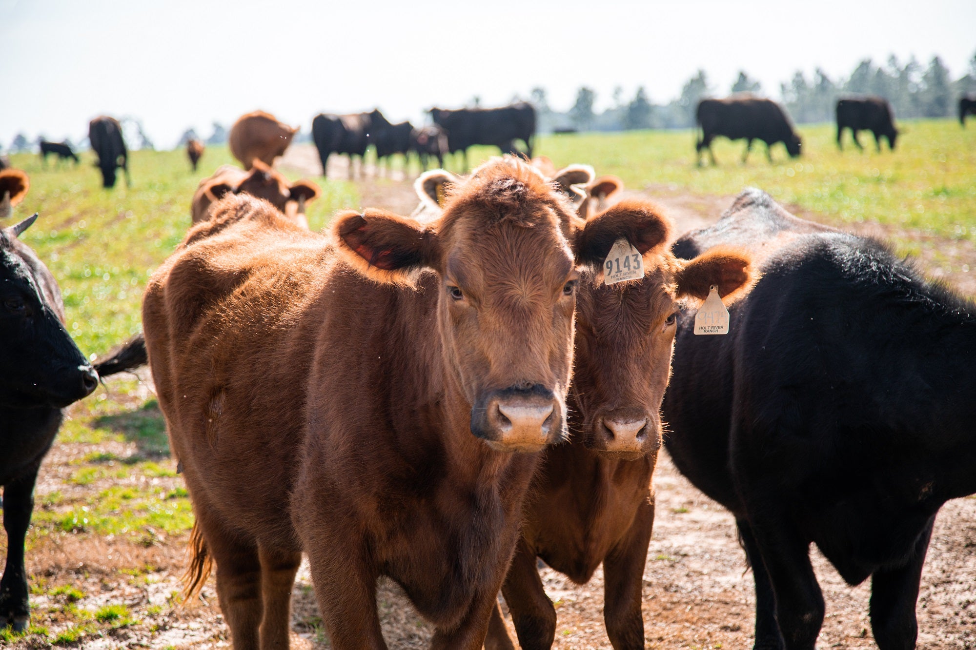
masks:
[[[201,181],[193,194],[190,214],[193,223],[200,223],[210,216],[210,206],[231,194],[250,194],[262,198],[293,223],[308,228],[305,219],[305,203],[313,201],[322,193],[318,185],[311,181],[291,183],[279,172],[255,160],[250,172],[239,167],[223,165],[209,179]]]

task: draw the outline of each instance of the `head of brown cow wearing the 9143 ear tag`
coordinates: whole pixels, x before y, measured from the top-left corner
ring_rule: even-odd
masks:
[[[754,277],[751,259],[737,251],[674,258],[670,230],[654,204],[627,200],[590,218],[576,236],[574,248],[585,270],[572,392],[584,444],[605,455],[634,459],[661,446],[661,401],[681,302],[704,300],[716,285],[728,303]],[[619,239],[637,249],[644,276],[607,286],[603,263]]]

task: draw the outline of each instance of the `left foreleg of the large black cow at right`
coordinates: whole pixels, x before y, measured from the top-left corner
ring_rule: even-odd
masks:
[[[788,650],[814,650],[824,623],[824,595],[810,564],[810,545],[781,508],[751,508],[752,534],[776,594],[776,618]],[[753,565],[754,566],[754,565]]]

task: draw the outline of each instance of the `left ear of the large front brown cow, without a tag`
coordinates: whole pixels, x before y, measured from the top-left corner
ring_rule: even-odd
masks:
[[[438,264],[433,231],[413,219],[384,210],[346,212],[331,230],[346,262],[377,282],[413,285],[421,269]]]

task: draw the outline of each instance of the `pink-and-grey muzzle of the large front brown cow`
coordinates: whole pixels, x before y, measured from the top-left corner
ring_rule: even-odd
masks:
[[[562,408],[539,384],[493,390],[471,408],[471,432],[497,451],[539,451],[561,437]]]

